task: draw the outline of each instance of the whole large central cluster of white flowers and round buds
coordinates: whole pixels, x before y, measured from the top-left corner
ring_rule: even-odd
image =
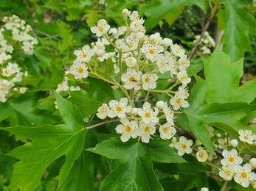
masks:
[[[187,84],[191,79],[187,76],[187,68],[190,61],[184,49],[173,44],[169,38],[163,39],[158,32],[146,35],[145,20],[137,11],[124,9],[122,15],[125,26],[111,28],[107,21],[101,19],[91,27],[98,40],[75,51],[76,59],[65,71],[68,78],[58,85],[57,90],[69,91],[69,79],[96,76],[125,94],[120,101],[111,100],[97,109],[100,119],[120,118],[122,124],[116,130],[122,134],[123,142],[139,137],[142,142],[148,143],[156,130],[159,130],[162,139],[170,139],[176,134],[175,112],[189,106]],[[105,68],[107,60],[112,61],[115,72],[105,79],[97,70]],[[170,79],[166,90],[157,89],[159,76]],[[143,92],[147,94],[145,103],[136,107],[138,104],[134,102]],[[148,101],[149,93],[165,93],[170,99],[152,106]]]

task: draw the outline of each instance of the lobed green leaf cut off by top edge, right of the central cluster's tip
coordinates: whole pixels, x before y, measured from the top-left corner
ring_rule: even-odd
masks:
[[[205,10],[204,0],[163,0],[158,2],[153,2],[151,4],[145,4],[143,7],[143,13],[147,16],[145,21],[146,29],[152,29],[156,26],[165,14],[170,15],[173,23],[181,14],[181,7],[187,6],[189,4],[196,4],[202,10]]]

